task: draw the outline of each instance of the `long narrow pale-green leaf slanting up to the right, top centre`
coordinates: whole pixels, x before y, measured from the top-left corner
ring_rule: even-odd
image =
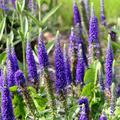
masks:
[[[47,15],[42,20],[42,25],[44,25],[47,20],[61,7],[62,4],[57,5],[54,7],[50,12],[47,13]]]

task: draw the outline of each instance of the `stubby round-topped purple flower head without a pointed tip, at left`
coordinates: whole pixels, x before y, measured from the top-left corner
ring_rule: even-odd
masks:
[[[15,72],[15,82],[17,86],[25,86],[26,84],[26,79],[24,76],[24,73],[21,70],[17,70]]]

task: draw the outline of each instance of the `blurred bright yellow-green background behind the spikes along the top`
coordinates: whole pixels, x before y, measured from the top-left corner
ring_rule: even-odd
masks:
[[[51,2],[51,0],[46,0]],[[62,7],[57,12],[58,21],[63,29],[68,29],[73,23],[73,1],[74,0],[53,0],[53,2],[62,3]],[[80,6],[80,0],[76,0]],[[116,22],[120,17],[120,0],[104,0],[107,22]],[[100,0],[90,0],[94,3],[95,13],[100,20]]]

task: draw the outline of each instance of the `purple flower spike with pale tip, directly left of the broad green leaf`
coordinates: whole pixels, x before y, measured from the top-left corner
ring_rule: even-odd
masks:
[[[82,46],[79,45],[78,48],[78,61],[77,61],[77,69],[76,69],[76,84],[80,83],[81,85],[84,84],[84,73],[85,73],[85,66],[84,66],[84,59],[82,54]]]

